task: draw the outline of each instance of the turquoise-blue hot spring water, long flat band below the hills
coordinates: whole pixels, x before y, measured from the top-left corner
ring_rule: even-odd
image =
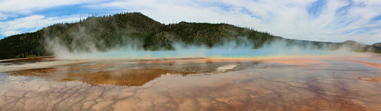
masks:
[[[309,56],[309,55],[353,55],[346,50],[302,50],[283,49],[184,49],[175,51],[109,51],[103,53],[87,53],[79,55],[59,56],[62,59],[111,58],[111,59],[154,59],[154,58],[259,58],[274,56]]]

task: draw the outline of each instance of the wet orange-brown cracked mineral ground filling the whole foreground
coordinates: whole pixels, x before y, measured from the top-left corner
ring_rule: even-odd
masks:
[[[381,110],[381,55],[0,63],[0,110]]]

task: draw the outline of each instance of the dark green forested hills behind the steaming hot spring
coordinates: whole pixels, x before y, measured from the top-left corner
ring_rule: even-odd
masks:
[[[268,32],[236,27],[231,24],[187,23],[161,24],[141,13],[91,16],[77,23],[58,23],[43,29],[0,40],[0,59],[54,55],[53,51],[108,51],[116,48],[175,50],[174,43],[215,47],[226,42],[250,43],[261,48],[264,43],[284,40],[288,45],[331,49],[348,45],[354,51],[380,52],[380,46],[361,43],[331,43],[284,39]]]

